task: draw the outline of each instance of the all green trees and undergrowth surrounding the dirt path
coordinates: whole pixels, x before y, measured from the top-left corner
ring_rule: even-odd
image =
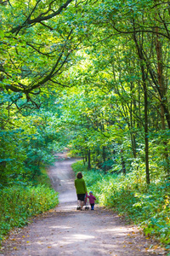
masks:
[[[1,236],[57,204],[42,177],[67,147],[168,248],[170,2],[1,0],[0,20]]]

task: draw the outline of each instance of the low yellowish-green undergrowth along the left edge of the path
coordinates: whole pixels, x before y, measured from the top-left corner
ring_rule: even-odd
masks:
[[[58,193],[51,188],[48,176],[42,171],[34,185],[13,185],[0,189],[0,240],[14,227],[29,222],[31,216],[46,212],[58,203]]]

